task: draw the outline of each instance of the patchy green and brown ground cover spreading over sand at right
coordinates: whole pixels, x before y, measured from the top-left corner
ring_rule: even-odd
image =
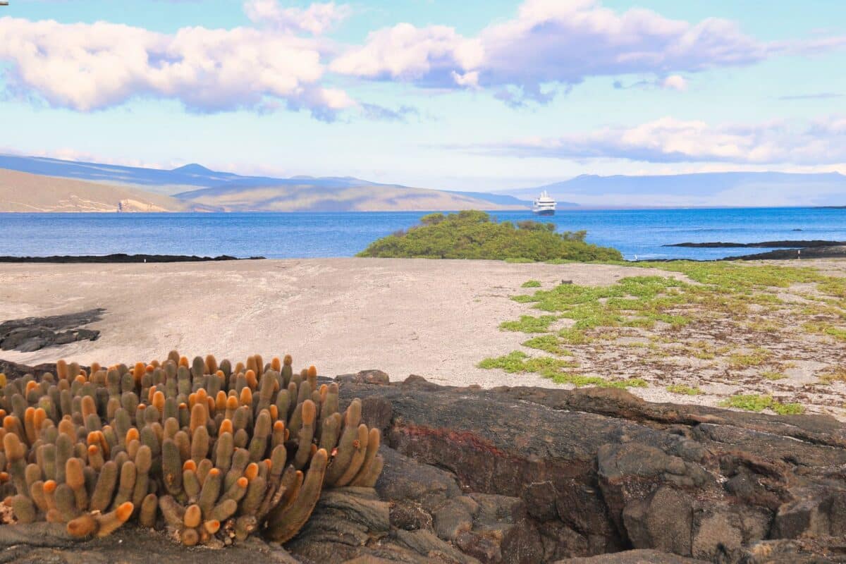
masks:
[[[527,340],[477,366],[575,387],[710,394],[722,407],[751,412],[811,407],[843,416],[846,277],[722,261],[632,267],[667,275],[633,270],[600,287],[525,282],[534,291],[511,299],[538,314],[526,311],[499,328]]]

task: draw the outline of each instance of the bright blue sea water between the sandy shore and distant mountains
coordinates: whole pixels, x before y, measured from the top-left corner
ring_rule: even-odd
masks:
[[[0,214],[0,255],[352,256],[376,238],[415,225],[424,212],[228,214]],[[500,221],[533,219],[497,211]],[[591,243],[634,259],[718,259],[758,249],[664,247],[684,242],[846,240],[846,209],[747,208],[558,211],[559,231],[588,232]]]

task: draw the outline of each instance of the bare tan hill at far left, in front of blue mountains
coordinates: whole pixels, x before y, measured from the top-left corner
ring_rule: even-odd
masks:
[[[0,211],[200,211],[202,206],[123,186],[0,169]]]

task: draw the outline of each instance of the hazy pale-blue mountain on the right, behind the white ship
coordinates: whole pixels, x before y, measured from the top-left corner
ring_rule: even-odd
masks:
[[[585,174],[534,188],[503,190],[518,198],[541,190],[560,202],[597,207],[794,206],[846,204],[846,176],[837,172],[700,172],[666,176]]]

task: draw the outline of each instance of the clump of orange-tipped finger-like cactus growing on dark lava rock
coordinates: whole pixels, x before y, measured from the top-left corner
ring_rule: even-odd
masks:
[[[289,355],[56,368],[0,384],[0,496],[18,523],[85,538],[134,520],[185,545],[286,542],[324,487],[372,487],[382,471],[360,400],[339,413],[338,384],[318,386],[313,366],[295,373]]]

